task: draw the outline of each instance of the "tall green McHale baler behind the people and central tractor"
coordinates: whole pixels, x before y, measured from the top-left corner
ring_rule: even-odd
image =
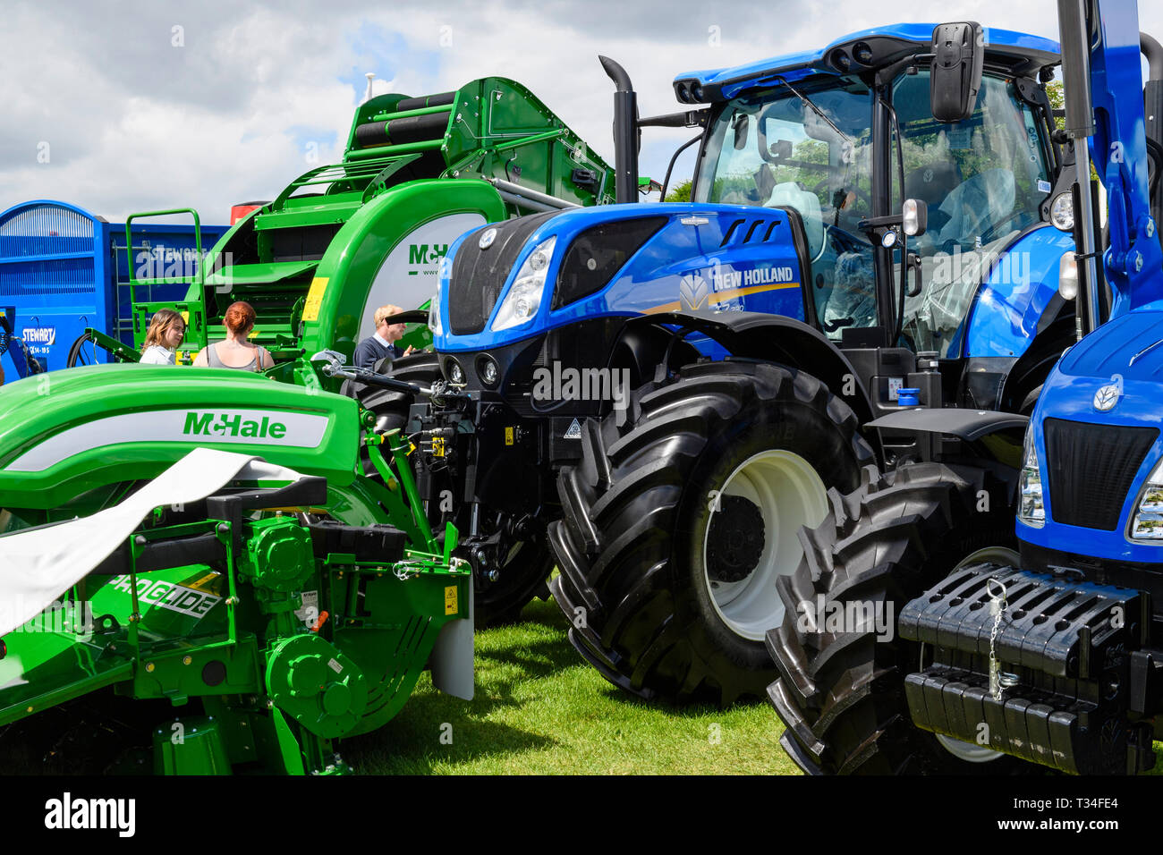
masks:
[[[422,98],[378,95],[356,109],[343,159],[308,170],[236,223],[190,279],[185,300],[135,299],[135,342],[150,315],[170,307],[187,316],[184,349],[204,348],[223,336],[226,308],[247,300],[258,314],[254,341],[276,361],[324,348],[350,357],[374,332],[378,306],[427,305],[441,258],[464,231],[609,202],[613,183],[613,170],[512,80],[488,77]],[[163,213],[179,212],[130,221]],[[131,284],[157,282],[172,279]],[[413,325],[404,343],[419,349],[430,341]]]

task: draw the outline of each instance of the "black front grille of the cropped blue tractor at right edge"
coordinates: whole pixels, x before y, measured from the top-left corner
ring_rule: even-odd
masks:
[[[1047,419],[1042,430],[1055,521],[1113,532],[1158,428]]]

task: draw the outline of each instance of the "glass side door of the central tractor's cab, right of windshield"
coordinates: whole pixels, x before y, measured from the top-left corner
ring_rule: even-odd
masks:
[[[928,205],[928,230],[909,242],[921,256],[921,293],[905,301],[904,335],[915,350],[957,356],[963,321],[982,278],[1021,231],[1041,221],[1050,174],[1040,128],[1013,83],[985,76],[973,114],[943,124],[929,112],[927,71],[902,76],[892,95],[904,140],[905,187],[893,157],[893,205]],[[899,258],[899,254],[898,254]],[[1021,259],[1001,275],[1029,287]]]

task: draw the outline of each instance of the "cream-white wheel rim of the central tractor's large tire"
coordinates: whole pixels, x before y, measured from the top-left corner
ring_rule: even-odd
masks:
[[[720,498],[748,499],[763,515],[763,551],[755,569],[740,582],[712,579],[707,564],[707,541],[714,513],[702,533],[702,582],[719,619],[744,639],[762,641],[764,633],[779,626],[784,604],[776,580],[790,576],[804,557],[797,533],[800,526],[818,526],[828,513],[828,491],[806,459],[792,451],[761,451],[748,457],[730,473]]]

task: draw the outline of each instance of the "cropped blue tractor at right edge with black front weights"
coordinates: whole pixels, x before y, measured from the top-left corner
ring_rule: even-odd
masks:
[[[912,459],[832,494],[768,634],[783,746],[807,772],[1155,763],[1163,50],[1133,0],[1058,0],[1058,14],[1065,134],[1080,143],[1062,288],[1093,332],[1050,372],[1028,426],[958,409],[872,422],[911,437]]]

